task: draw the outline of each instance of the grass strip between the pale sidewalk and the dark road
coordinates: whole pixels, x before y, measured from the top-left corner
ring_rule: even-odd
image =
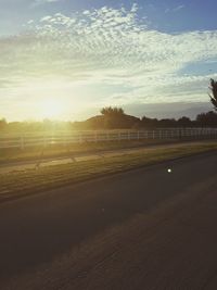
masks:
[[[174,144],[169,149],[165,146],[119,156],[1,174],[0,202],[210,150],[217,150],[217,142]]]

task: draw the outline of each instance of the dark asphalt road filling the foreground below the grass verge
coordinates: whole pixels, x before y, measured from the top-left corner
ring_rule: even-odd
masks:
[[[217,289],[216,165],[206,153],[0,204],[0,289]]]

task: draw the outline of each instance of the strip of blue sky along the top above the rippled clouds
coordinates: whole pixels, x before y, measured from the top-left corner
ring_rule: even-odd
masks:
[[[27,20],[37,20],[44,14],[58,12],[71,14],[82,10],[100,9],[104,5],[130,9],[135,2],[139,7],[139,16],[148,17],[150,26],[157,27],[162,31],[216,29],[217,2],[215,0],[0,0],[1,34],[17,33],[22,30],[22,25]]]

